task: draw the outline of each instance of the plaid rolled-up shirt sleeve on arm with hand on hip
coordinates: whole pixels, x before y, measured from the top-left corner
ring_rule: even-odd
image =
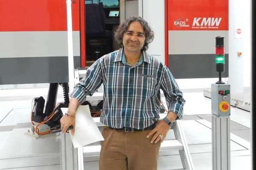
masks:
[[[185,99],[183,98],[183,93],[178,87],[172,73],[166,66],[163,70],[161,89],[163,90],[168,104],[168,112],[172,111],[177,114],[177,119],[182,119]]]

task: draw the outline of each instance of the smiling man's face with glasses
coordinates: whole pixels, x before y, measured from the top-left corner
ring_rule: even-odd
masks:
[[[124,48],[130,52],[140,52],[144,46],[145,33],[140,22],[131,22],[123,35]]]

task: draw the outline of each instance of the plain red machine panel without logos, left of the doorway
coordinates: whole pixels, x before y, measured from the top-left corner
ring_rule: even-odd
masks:
[[[66,0],[0,0],[0,31],[66,31]],[[72,1],[79,30],[79,0]]]

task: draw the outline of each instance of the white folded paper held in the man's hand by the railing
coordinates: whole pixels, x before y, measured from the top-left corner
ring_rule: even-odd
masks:
[[[67,108],[62,108],[65,114]],[[75,134],[70,137],[75,148],[104,140],[96,123],[93,121],[88,105],[79,106],[75,114]]]

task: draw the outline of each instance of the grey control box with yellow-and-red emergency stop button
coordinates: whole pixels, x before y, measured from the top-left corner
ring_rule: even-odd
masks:
[[[212,114],[230,116],[230,85],[212,84]]]

